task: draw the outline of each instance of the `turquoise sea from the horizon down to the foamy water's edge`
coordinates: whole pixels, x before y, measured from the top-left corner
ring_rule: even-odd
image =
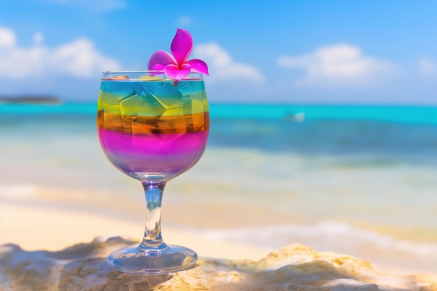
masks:
[[[166,186],[164,226],[437,274],[436,106],[209,109],[207,150]],[[95,103],[0,105],[0,170],[3,200],[142,217],[140,185],[100,149]]]

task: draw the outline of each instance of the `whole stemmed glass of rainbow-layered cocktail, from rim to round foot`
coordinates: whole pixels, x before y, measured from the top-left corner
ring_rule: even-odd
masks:
[[[104,72],[98,96],[98,138],[108,160],[145,189],[145,234],[138,246],[108,256],[113,267],[133,274],[188,269],[198,256],[170,246],[161,236],[165,184],[197,163],[209,134],[202,74],[172,80],[159,70]]]

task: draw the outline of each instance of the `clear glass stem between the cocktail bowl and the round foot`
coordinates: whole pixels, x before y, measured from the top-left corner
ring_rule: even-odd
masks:
[[[145,234],[140,244],[144,249],[162,249],[166,248],[161,237],[161,202],[163,200],[164,184],[147,184],[143,183],[146,195],[146,228]]]

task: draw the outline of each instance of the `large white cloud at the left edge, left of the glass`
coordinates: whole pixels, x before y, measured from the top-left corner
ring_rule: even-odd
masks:
[[[36,45],[20,47],[15,33],[0,27],[0,76],[25,79],[31,76],[89,78],[103,70],[117,70],[119,62],[96,50],[91,40],[79,38],[59,47],[45,47],[43,34],[34,35]]]

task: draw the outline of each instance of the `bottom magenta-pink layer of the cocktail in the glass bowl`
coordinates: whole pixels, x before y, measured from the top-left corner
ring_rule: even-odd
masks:
[[[132,135],[99,128],[108,159],[137,179],[172,179],[191,168],[205,151],[209,130],[194,133]]]

